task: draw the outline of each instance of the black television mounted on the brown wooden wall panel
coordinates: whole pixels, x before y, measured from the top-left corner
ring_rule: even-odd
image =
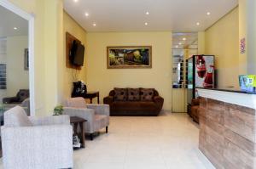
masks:
[[[84,45],[73,41],[70,51],[70,62],[72,65],[84,65]]]

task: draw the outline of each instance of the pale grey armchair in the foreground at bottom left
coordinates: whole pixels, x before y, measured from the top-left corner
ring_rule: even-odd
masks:
[[[28,117],[20,107],[4,113],[3,168],[73,167],[73,128],[68,115]]]

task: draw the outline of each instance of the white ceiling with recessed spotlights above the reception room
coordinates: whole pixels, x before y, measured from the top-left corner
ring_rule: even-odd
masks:
[[[204,31],[237,5],[238,0],[64,0],[67,13],[86,31]]]

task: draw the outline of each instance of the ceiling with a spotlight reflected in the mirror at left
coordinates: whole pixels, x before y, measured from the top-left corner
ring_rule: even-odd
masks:
[[[0,37],[25,35],[28,35],[28,21],[0,6]]]

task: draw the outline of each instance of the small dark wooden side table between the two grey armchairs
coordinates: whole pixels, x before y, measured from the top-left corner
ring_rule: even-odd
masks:
[[[80,136],[80,142],[82,144],[82,148],[85,147],[85,138],[84,138],[84,127],[83,124],[86,120],[78,117],[78,116],[71,116],[70,117],[70,123],[73,124],[73,132],[75,135]],[[78,126],[81,129],[81,132],[78,134]]]

